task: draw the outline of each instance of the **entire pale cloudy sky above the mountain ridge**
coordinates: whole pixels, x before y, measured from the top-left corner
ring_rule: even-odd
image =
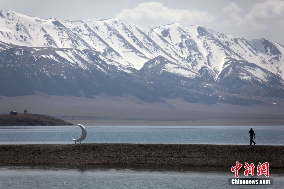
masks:
[[[144,27],[197,24],[284,45],[284,0],[0,0],[0,9],[66,20],[120,18]]]

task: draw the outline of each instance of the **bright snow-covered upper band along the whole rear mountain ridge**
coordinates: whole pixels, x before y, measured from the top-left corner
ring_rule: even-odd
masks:
[[[225,35],[197,25],[175,23],[151,29],[120,19],[40,19],[1,10],[0,41],[29,47],[89,49],[100,52],[108,64],[137,70],[162,56],[173,62],[164,65],[167,73],[188,78],[206,76],[216,81],[228,66],[225,62],[235,59],[284,79],[282,45],[267,39]],[[259,74],[255,77],[263,78],[262,72]]]

